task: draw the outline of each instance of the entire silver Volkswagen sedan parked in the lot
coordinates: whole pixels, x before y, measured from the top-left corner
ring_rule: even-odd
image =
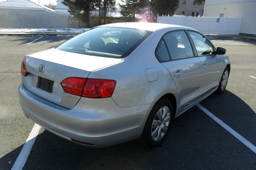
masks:
[[[24,113],[67,140],[105,147],[142,136],[158,146],[172,121],[225,91],[230,61],[192,28],[118,23],[26,55]]]

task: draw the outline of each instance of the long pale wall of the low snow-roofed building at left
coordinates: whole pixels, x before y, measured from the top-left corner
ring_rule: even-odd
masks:
[[[0,28],[68,28],[68,15],[45,10],[0,8]]]

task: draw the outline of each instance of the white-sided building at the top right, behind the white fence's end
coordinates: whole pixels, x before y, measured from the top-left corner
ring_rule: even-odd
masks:
[[[242,18],[240,34],[256,35],[256,0],[206,0],[204,16]]]

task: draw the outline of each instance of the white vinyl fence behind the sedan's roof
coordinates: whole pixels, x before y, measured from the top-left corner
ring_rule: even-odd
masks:
[[[242,18],[158,16],[157,23],[194,28],[207,35],[239,35]]]

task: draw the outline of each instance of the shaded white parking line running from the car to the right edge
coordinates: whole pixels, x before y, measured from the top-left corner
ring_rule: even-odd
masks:
[[[204,111],[208,116],[210,116],[214,121],[216,121],[220,126],[222,126],[224,129],[226,129],[228,132],[230,132],[233,136],[235,136],[238,140],[240,140],[243,144],[245,144],[250,150],[252,150],[254,153],[256,153],[256,146],[254,146],[251,142],[246,140],[243,136],[238,134],[235,130],[233,130],[231,127],[226,125],[226,123],[222,122],[222,120],[218,119],[218,117],[214,116],[210,111],[205,109],[202,105],[197,104],[197,107]]]

